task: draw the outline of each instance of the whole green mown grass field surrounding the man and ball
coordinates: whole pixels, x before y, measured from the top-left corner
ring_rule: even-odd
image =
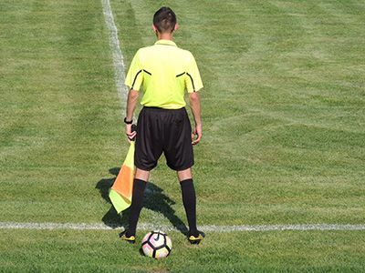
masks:
[[[110,0],[126,69],[169,5],[203,77],[193,175],[216,228],[188,244],[162,157],[140,219],[172,227],[162,260],[120,242],[108,198],[129,144],[103,3],[0,1],[0,223],[120,226],[0,228],[0,272],[364,272],[364,229],[219,229],[365,224],[363,1]]]

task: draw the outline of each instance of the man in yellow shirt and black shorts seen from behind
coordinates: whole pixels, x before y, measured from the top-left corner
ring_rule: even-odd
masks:
[[[192,169],[193,145],[202,138],[200,96],[202,79],[193,55],[172,42],[176,31],[176,15],[162,7],[153,16],[152,28],[158,41],[141,48],[134,56],[125,84],[130,87],[127,116],[124,119],[129,139],[136,136],[135,166],[129,228],[120,238],[135,242],[137,222],[143,207],[144,190],[152,168],[164,153],[167,165],[177,172],[183,195],[183,206],[189,224],[188,240],[199,244],[203,232],[196,227],[196,196]],[[131,132],[133,113],[143,84],[138,133]],[[189,94],[195,126],[185,109],[184,90]]]

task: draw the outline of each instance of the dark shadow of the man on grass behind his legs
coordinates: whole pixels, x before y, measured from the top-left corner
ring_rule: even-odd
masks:
[[[109,179],[101,179],[96,186],[96,188],[98,188],[100,191],[100,196],[111,205],[110,210],[104,215],[104,217],[102,217],[102,221],[107,226],[112,228],[128,228],[130,208],[123,210],[119,215],[114,206],[112,206],[109,197],[110,188],[113,186],[114,181],[120,172],[120,167],[110,168],[109,171],[114,177]],[[162,213],[164,217],[169,219],[174,228],[186,235],[188,233],[188,228],[185,226],[183,221],[175,215],[175,210],[173,210],[171,207],[171,205],[174,205],[175,202],[170,197],[162,194],[162,191],[163,190],[161,187],[157,187],[151,182],[147,183],[146,191],[144,193],[143,208],[148,208]],[[158,227],[159,224],[156,224],[156,226]]]

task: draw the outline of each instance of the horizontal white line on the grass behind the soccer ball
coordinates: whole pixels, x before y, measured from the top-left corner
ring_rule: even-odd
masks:
[[[0,222],[0,229],[77,229],[77,230],[110,230],[124,228],[120,226],[110,227],[105,224],[72,224],[72,223],[16,223]],[[207,232],[234,232],[234,231],[280,231],[280,230],[365,230],[365,224],[297,224],[297,225],[257,225],[257,226],[201,226],[199,229]],[[138,225],[141,230],[161,229],[164,231],[177,231],[176,227],[170,225],[152,225],[141,223]]]

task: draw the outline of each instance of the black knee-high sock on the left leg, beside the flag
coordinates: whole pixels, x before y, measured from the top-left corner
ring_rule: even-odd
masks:
[[[146,181],[134,178],[130,205],[130,226],[126,232],[127,237],[136,235],[137,222],[140,218],[141,209],[143,207],[144,190],[146,189],[146,185]]]

